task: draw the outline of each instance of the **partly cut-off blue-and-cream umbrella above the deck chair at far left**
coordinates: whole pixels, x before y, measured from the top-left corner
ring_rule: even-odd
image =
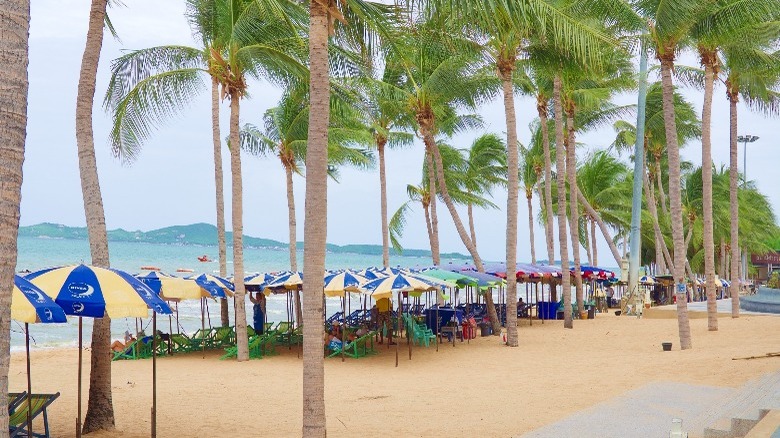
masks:
[[[37,286],[14,275],[11,294],[11,319],[24,323],[24,347],[27,353],[27,394],[32,394],[30,377],[30,324],[67,322],[65,311]],[[32,400],[27,397],[27,431],[32,433]]]

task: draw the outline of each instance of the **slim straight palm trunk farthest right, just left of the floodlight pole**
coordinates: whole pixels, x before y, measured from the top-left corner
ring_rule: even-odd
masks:
[[[731,88],[731,87],[730,87]],[[729,94],[729,211],[731,212],[731,317],[739,318],[739,164],[737,148],[738,90]]]

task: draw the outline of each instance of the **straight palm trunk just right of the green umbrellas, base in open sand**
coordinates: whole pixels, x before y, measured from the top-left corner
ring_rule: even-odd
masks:
[[[506,118],[506,164],[507,164],[507,199],[506,199],[506,344],[510,347],[518,346],[517,339],[517,277],[510,276],[509,272],[516,272],[517,266],[517,210],[519,198],[519,164],[517,150],[517,119],[515,114],[515,95],[512,87],[512,72],[515,69],[516,59],[510,55],[498,61],[501,87],[504,94],[504,116]],[[529,198],[530,204],[530,198]],[[455,208],[450,209],[453,214]],[[533,223],[531,223],[531,236],[533,236]],[[474,243],[474,242],[472,242]],[[474,252],[476,253],[476,244]],[[535,260],[533,237],[531,239],[531,257]],[[534,262],[535,263],[535,262]]]

